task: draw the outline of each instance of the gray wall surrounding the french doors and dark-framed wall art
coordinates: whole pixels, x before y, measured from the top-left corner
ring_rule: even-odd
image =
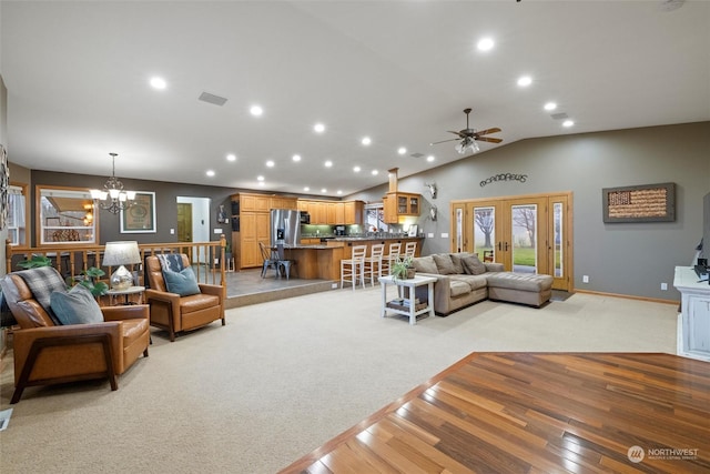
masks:
[[[410,159],[410,158],[409,158]],[[393,164],[392,168],[396,165]],[[499,173],[527,174],[525,183],[479,182]],[[449,201],[571,191],[574,195],[575,286],[580,290],[678,300],[676,265],[690,265],[702,235],[702,199],[710,190],[710,122],[528,139],[423,174],[399,177],[399,190],[422,193],[423,253],[446,252]],[[425,182],[436,182],[432,200]],[[602,188],[674,182],[676,221],[602,222]],[[347,196],[382,201],[387,185]],[[437,205],[436,222],[428,206]],[[582,283],[581,276],[590,282]],[[661,291],[660,284],[669,284]]]

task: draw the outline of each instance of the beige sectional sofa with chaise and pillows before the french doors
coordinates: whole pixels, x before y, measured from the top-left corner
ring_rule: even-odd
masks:
[[[436,278],[434,311],[438,315],[486,299],[539,307],[552,294],[550,275],[505,272],[501,263],[483,263],[474,253],[419,256],[414,268],[418,275]],[[426,300],[423,288],[417,289],[417,297]]]

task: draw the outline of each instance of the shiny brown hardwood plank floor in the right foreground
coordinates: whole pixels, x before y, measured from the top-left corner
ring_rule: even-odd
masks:
[[[282,473],[708,473],[710,363],[478,353]]]

